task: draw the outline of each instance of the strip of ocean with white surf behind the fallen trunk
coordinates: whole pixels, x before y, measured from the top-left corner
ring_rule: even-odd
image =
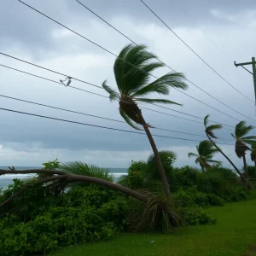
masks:
[[[15,167],[16,170],[25,170],[25,169],[41,169],[42,167],[37,166],[18,166]],[[0,166],[0,169],[8,170],[7,166]],[[119,177],[127,174],[127,168],[106,168],[109,172],[113,173],[114,180],[117,181]],[[9,184],[13,183],[14,178],[26,179],[32,177],[33,174],[4,174],[0,176],[0,189],[7,189]]]

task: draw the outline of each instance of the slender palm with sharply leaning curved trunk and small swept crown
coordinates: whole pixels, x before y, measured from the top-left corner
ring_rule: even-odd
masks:
[[[206,134],[207,134],[208,139],[209,139],[210,142],[214,145],[214,147],[218,149],[218,152],[219,152],[220,154],[222,154],[222,155],[224,156],[224,158],[230,162],[231,166],[233,166],[233,167],[235,168],[236,172],[237,172],[238,175],[241,177],[241,180],[242,180],[244,183],[247,183],[247,185],[248,185],[249,188],[252,188],[251,184],[250,184],[250,183],[247,181],[247,179],[242,175],[242,173],[241,173],[241,172],[239,171],[239,169],[235,166],[235,164],[233,163],[233,161],[230,160],[230,158],[229,158],[226,154],[224,154],[223,150],[222,150],[221,148],[219,148],[219,147],[217,146],[217,144],[212,140],[212,138],[215,138],[215,139],[218,138],[218,137],[216,137],[216,135],[214,134],[214,131],[221,129],[221,128],[222,128],[222,125],[218,125],[218,124],[216,124],[216,125],[208,125],[208,123],[209,123],[209,117],[210,117],[210,115],[207,114],[207,116],[204,118],[204,125],[205,125],[205,128],[206,128],[205,132],[206,132]]]

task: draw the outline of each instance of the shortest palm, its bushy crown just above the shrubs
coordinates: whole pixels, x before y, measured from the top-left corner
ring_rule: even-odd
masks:
[[[210,164],[221,164],[220,161],[212,160],[213,154],[218,152],[218,149],[213,148],[213,144],[207,140],[202,141],[196,146],[197,154],[189,153],[189,158],[195,156],[195,163],[201,166],[202,172],[205,168],[211,167]]]

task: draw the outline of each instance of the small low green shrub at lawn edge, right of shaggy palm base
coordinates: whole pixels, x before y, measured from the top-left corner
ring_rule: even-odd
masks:
[[[212,218],[207,212],[203,212],[199,208],[184,208],[183,216],[186,224],[198,225],[198,224],[215,224],[217,219]]]

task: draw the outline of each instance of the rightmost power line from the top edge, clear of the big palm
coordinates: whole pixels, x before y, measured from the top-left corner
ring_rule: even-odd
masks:
[[[253,102],[253,100],[251,100],[249,97],[247,97],[247,96],[245,96],[244,94],[242,94],[240,90],[237,90],[234,85],[230,84],[229,81],[227,81],[226,79],[224,79],[224,77],[223,77],[221,74],[219,74],[212,66],[210,66],[210,65],[207,63],[207,61],[205,61],[200,55],[198,55],[198,54],[195,52],[195,50],[192,49],[192,48],[189,46],[189,44],[185,43],[185,42],[183,41],[183,39],[180,38],[180,37],[177,35],[177,33],[174,32],[174,31],[172,30],[172,28],[171,28],[170,26],[168,26],[168,25],[166,24],[166,22],[160,18],[159,15],[156,15],[156,13],[154,13],[153,9],[150,9],[150,8],[148,7],[148,5],[143,2],[143,0],[140,0],[140,1],[141,1],[141,2],[142,2],[142,3],[143,3],[143,4],[144,4],[144,5],[145,5],[145,6],[146,6],[146,7],[147,7],[147,8],[148,8],[148,9],[149,9],[149,10],[167,27],[167,28],[168,28],[168,29],[169,29],[180,41],[182,41],[183,44],[185,44],[199,59],[201,59],[201,61],[203,61],[203,62],[207,65],[207,67],[209,67],[210,69],[212,69],[212,71],[213,71],[214,73],[216,73],[216,74],[218,75],[218,77],[220,77],[221,79],[223,79],[224,82],[226,82],[227,84],[229,84],[234,90],[236,90],[238,93],[240,93],[241,96],[244,96],[244,97],[247,98],[247,100]],[[254,103],[254,102],[253,102],[253,103]]]

